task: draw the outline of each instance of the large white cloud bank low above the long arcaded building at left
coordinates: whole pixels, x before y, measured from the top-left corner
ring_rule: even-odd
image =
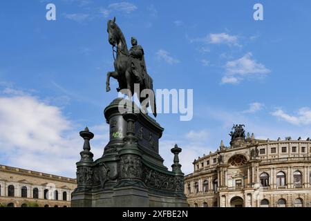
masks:
[[[0,122],[0,155],[6,164],[75,177],[75,162],[83,147],[80,126],[64,117],[60,108],[13,92],[0,97]],[[91,148],[100,157],[108,127],[106,131],[97,128],[90,127],[95,133]]]

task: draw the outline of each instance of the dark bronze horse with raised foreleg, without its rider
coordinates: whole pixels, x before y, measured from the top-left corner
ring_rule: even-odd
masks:
[[[119,88],[117,88],[117,91],[120,91],[122,89],[128,89],[131,91],[132,96],[134,95],[134,84],[140,84],[140,94],[144,89],[153,90],[153,79],[147,73],[145,73],[144,75],[144,81],[137,81],[137,79],[134,77],[131,70],[131,63],[133,57],[129,55],[126,40],[121,29],[119,28],[119,26],[117,26],[117,23],[115,23],[115,18],[108,21],[107,32],[109,33],[109,44],[111,44],[113,48],[116,48],[117,57],[114,61],[115,71],[109,71],[107,73],[106,91],[108,92],[109,90],[111,90],[109,86],[110,77],[117,79],[119,83]],[[140,103],[142,103],[144,99],[149,99],[148,96],[146,98],[140,97],[138,95],[138,97],[140,99]],[[151,111],[156,117],[156,97],[154,93],[153,102],[151,102],[151,100],[152,99],[149,99],[147,107],[149,106],[149,104],[151,105]]]

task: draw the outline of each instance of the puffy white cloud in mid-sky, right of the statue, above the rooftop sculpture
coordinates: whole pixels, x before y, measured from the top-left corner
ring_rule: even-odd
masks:
[[[271,72],[263,64],[257,63],[252,59],[252,53],[248,52],[243,57],[227,61],[225,65],[226,75],[222,79],[223,84],[237,84],[244,77],[256,76],[262,77]]]

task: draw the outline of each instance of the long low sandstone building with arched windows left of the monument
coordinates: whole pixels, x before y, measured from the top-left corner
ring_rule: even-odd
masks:
[[[0,165],[0,206],[69,207],[76,180]]]

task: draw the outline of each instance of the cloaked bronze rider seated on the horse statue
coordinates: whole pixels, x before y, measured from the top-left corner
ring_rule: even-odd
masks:
[[[133,58],[131,61],[131,70],[135,75],[135,83],[143,83],[145,73],[147,73],[146,63],[144,62],[144,49],[138,45],[138,41],[135,37],[131,37],[132,47],[129,50],[129,55]]]

